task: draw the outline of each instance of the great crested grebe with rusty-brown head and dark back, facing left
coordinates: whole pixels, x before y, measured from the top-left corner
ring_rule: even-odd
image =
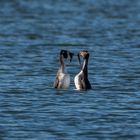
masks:
[[[84,59],[82,66],[80,56]],[[88,80],[88,58],[89,52],[87,50],[83,50],[78,53],[78,60],[80,63],[81,71],[74,78],[75,87],[78,90],[91,89],[91,84]]]

